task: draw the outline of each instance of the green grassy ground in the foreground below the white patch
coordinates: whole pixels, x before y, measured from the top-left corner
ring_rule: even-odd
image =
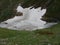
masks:
[[[53,32],[54,34],[39,33],[45,31]],[[47,43],[60,45],[60,24],[39,31],[16,31],[0,28],[0,42],[1,40],[5,40],[6,45],[47,45]]]

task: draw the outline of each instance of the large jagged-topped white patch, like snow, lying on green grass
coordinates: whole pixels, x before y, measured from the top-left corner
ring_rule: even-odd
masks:
[[[46,13],[46,9],[39,8],[23,8],[17,7],[17,12],[23,13],[23,16],[15,16],[0,23],[0,27],[16,30],[36,30],[50,27],[56,23],[48,23],[42,21],[42,16]]]

